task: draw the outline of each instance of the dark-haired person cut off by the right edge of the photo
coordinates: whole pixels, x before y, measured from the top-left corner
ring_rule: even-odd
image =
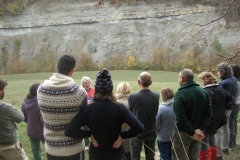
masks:
[[[231,66],[233,71],[233,76],[237,79],[237,87],[235,93],[235,103],[232,106],[232,113],[229,119],[229,128],[230,128],[230,142],[229,148],[236,146],[236,136],[237,136],[237,116],[240,110],[240,68],[237,64]]]

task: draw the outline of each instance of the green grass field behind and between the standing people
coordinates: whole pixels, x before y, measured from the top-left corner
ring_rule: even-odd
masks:
[[[139,74],[142,71],[129,71],[129,70],[110,70],[110,74],[112,75],[113,85],[114,85],[114,93],[116,91],[117,85],[122,81],[127,81],[131,85],[132,92],[135,93],[139,90],[137,85],[137,79]],[[176,91],[179,87],[177,82],[178,73],[176,72],[162,72],[162,71],[148,71],[152,75],[152,85],[150,89],[155,92],[159,92],[161,88],[170,86]],[[92,85],[94,86],[96,79],[97,71],[88,71],[88,72],[75,72],[73,74],[73,79],[77,84],[81,83],[81,78],[83,76],[89,76],[92,79]],[[4,102],[13,104],[16,108],[21,109],[23,99],[26,97],[28,93],[28,89],[33,83],[43,83],[45,79],[48,79],[52,73],[35,73],[35,74],[15,74],[15,75],[2,75],[1,77],[8,81],[8,86],[6,88],[5,97],[3,99]],[[195,75],[195,79],[197,80],[197,75]],[[238,116],[238,121],[240,121],[240,116]],[[239,127],[240,128],[240,127]],[[29,142],[29,138],[26,134],[26,123],[18,124],[18,133],[19,140],[23,144],[24,150],[26,151],[30,160],[33,160],[31,146]],[[240,130],[238,131],[240,133]],[[237,160],[240,159],[239,151],[240,151],[240,136],[238,134],[238,142],[237,146],[231,150],[230,156],[225,156],[225,159],[228,160]],[[43,159],[46,160],[46,154],[43,148]],[[156,146],[157,151],[157,146]],[[86,156],[88,157],[88,156]],[[145,159],[144,157],[142,159]],[[159,159],[156,158],[156,159]],[[88,160],[88,159],[87,159]]]

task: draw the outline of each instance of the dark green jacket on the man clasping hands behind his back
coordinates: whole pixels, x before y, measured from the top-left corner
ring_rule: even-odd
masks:
[[[180,86],[174,96],[173,108],[178,130],[189,136],[193,136],[196,129],[203,131],[213,115],[208,93],[194,81]]]

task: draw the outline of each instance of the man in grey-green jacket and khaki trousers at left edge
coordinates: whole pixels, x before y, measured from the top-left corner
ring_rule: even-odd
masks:
[[[5,96],[7,81],[0,77],[0,100]],[[17,126],[24,120],[21,111],[0,101],[0,160],[28,160],[18,140]]]

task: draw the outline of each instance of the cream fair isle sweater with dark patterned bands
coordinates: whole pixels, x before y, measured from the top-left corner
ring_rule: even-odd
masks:
[[[64,135],[64,130],[81,107],[87,104],[85,89],[74,80],[54,73],[38,88],[38,105],[44,121],[45,150],[53,156],[70,156],[84,149],[84,140]]]

